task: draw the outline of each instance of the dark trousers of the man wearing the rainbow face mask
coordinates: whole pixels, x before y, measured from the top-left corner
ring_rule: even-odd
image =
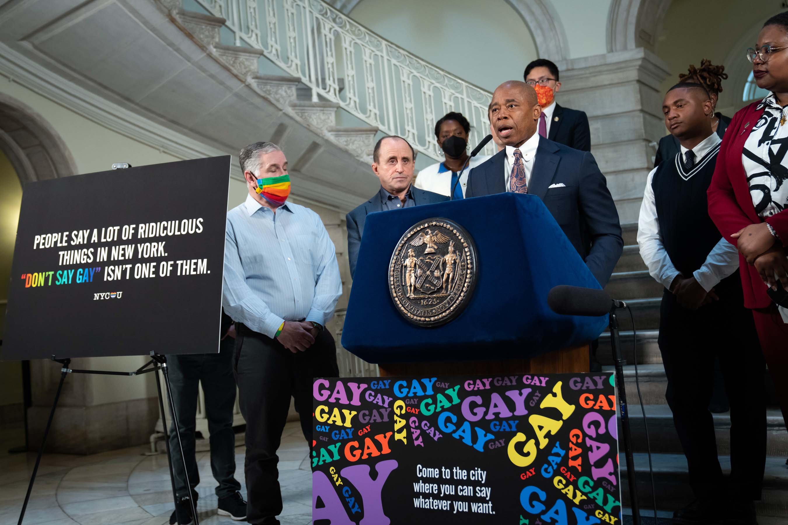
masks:
[[[316,377],[336,377],[336,346],[322,331],[305,352],[292,353],[276,339],[236,324],[236,380],[240,408],[247,422],[247,521],[282,512],[277,449],[296,399],[303,437],[312,446],[312,383]]]

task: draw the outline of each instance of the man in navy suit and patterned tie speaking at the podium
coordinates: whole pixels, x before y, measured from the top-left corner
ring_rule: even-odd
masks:
[[[619,213],[591,153],[537,133],[541,106],[524,82],[502,83],[492,94],[492,131],[504,144],[468,176],[466,198],[511,191],[536,195],[604,287],[623,250]]]

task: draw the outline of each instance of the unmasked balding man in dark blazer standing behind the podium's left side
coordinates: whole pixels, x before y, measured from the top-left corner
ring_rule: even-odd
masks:
[[[448,201],[445,195],[413,187],[415,158],[413,146],[402,137],[382,137],[375,144],[372,171],[381,180],[381,189],[369,201],[345,216],[348,224],[348,262],[351,277],[355,275],[355,262],[359,259],[367,214]]]

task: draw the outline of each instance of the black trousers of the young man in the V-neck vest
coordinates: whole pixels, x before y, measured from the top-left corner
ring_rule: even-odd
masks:
[[[730,490],[737,498],[760,500],[766,463],[764,357],[741,294],[732,286],[716,290],[720,300],[694,312],[678,305],[667,290],[663,294],[659,344],[667,375],[665,397],[695,497],[726,497],[708,411],[719,358],[730,400]]]

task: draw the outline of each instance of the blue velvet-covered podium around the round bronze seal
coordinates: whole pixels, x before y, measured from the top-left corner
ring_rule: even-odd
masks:
[[[466,308],[439,327],[411,324],[388,289],[400,237],[441,217],[474,239],[476,287]],[[496,194],[371,213],[366,217],[342,346],[381,375],[588,372],[588,343],[608,316],[560,316],[547,305],[559,284],[600,288],[540,198]]]

